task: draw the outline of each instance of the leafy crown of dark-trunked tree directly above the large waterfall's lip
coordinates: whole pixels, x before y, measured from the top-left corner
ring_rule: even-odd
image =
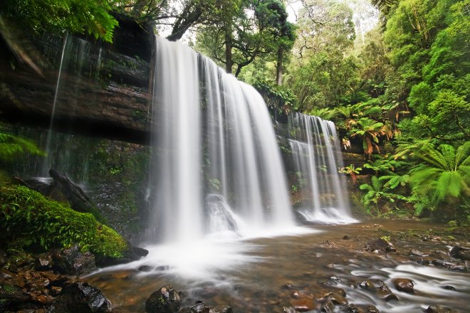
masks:
[[[279,0],[217,1],[195,48],[236,77],[258,58],[276,59],[293,43],[294,27]],[[282,62],[283,55],[278,59]]]

